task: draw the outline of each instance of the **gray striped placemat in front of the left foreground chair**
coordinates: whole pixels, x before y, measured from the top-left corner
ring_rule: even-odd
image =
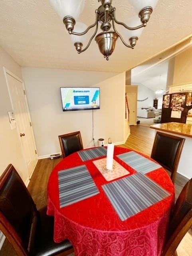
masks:
[[[58,172],[60,207],[99,194],[85,165]]]

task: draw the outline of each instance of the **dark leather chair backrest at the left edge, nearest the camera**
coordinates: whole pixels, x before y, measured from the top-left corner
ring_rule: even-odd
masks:
[[[0,177],[0,230],[18,255],[27,256],[33,247],[38,212],[14,166]]]

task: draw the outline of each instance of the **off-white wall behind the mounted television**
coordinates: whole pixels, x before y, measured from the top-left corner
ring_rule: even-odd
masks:
[[[92,110],[63,112],[60,87],[65,86],[100,87],[101,109],[94,110],[95,142],[105,138],[106,143],[109,137],[124,141],[125,73],[111,77],[117,73],[22,68],[22,74],[40,157],[60,152],[58,135],[68,132],[80,130],[84,148],[93,146]]]

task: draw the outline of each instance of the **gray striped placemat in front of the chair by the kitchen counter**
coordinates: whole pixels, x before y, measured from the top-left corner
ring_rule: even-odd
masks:
[[[155,162],[152,162],[151,160],[133,151],[118,155],[117,157],[131,166],[131,168],[137,172],[142,172],[144,174],[162,167],[160,164],[156,164]]]

